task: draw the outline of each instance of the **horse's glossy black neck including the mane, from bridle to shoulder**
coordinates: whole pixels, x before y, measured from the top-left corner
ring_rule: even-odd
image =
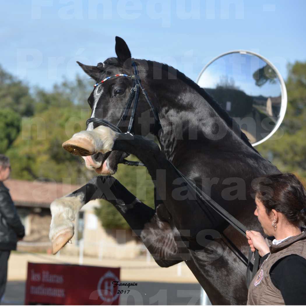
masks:
[[[155,126],[154,134],[169,160],[172,160],[174,152],[180,151],[177,149],[184,149],[184,146],[213,145],[223,150],[242,149],[258,153],[226,111],[183,73],[158,62],[135,61],[143,85],[159,114],[161,129]],[[216,124],[225,132],[221,139],[211,137]]]

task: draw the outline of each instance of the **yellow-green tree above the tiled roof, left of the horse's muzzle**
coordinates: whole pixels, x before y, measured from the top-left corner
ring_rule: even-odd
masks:
[[[32,118],[24,118],[22,131],[6,154],[11,159],[12,178],[62,182],[92,176],[80,157],[62,148],[75,132],[86,129],[77,107],[50,107]],[[25,120],[27,119],[27,120]]]

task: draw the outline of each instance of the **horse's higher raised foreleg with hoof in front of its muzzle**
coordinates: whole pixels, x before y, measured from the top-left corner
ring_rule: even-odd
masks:
[[[111,150],[136,155],[147,167],[157,193],[170,212],[175,228],[180,231],[182,237],[190,240],[190,243],[196,244],[196,234],[200,230],[213,229],[222,220],[221,217],[215,217],[209,208],[204,207],[207,211],[205,215],[203,214],[203,206],[201,207],[201,204],[198,203],[194,192],[186,187],[174,166],[153,141],[146,140],[139,135],[118,133],[108,127],[99,126],[93,131],[74,134],[63,144],[63,147],[76,155],[83,155],[86,152],[92,155]],[[180,194],[182,189],[185,189],[184,191],[188,189],[188,196]],[[203,218],[197,219],[195,216],[203,216]],[[185,235],[186,230],[190,230],[190,235]]]

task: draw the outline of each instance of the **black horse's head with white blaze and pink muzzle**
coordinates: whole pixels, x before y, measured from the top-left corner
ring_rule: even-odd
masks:
[[[115,52],[117,58],[107,58],[103,63],[98,63],[97,66],[84,65],[77,62],[80,67],[93,78],[97,84],[95,85],[91,95],[88,98],[88,104],[91,107],[91,118],[103,119],[110,124],[116,126],[120,121],[124,110],[129,101],[133,88],[133,80],[130,77],[134,75],[132,67],[132,58],[129,47],[125,41],[116,37]],[[138,62],[137,69],[142,84],[145,84],[146,71]],[[112,77],[112,76],[122,77]],[[112,77],[107,79],[108,77]],[[107,82],[103,80],[107,79]],[[102,83],[101,83],[102,81]],[[144,102],[144,103],[142,103]],[[135,124],[131,132],[142,135],[141,123],[138,121],[140,114],[149,111],[149,106],[145,103],[143,95],[139,96],[139,104],[135,114]],[[130,111],[129,114],[130,115]],[[126,132],[129,125],[129,120],[121,122],[121,132]],[[99,123],[90,122],[87,126],[87,131],[92,131],[99,126]],[[150,132],[147,131],[146,134]],[[122,162],[128,154],[121,151],[111,151],[106,154],[96,153],[94,155],[83,156],[86,167],[89,170],[95,170],[99,174],[112,175],[117,171],[118,163]]]

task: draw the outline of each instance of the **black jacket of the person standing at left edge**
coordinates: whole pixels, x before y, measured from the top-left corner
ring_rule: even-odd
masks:
[[[0,181],[0,250],[16,250],[18,238],[24,237],[24,226],[9,195]]]

